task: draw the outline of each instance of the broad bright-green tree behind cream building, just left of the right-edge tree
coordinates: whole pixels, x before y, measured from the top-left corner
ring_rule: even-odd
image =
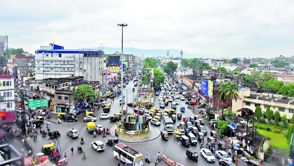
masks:
[[[284,85],[283,81],[270,79],[257,85],[258,92],[273,93],[276,94],[278,90]]]

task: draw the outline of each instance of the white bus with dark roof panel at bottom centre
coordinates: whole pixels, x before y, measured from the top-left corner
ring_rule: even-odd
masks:
[[[143,155],[123,143],[114,146],[113,155],[128,166],[143,166]]]

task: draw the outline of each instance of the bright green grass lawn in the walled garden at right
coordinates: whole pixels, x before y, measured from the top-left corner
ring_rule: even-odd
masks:
[[[272,133],[270,131],[257,129],[258,133],[270,137],[270,147],[286,150],[290,150],[290,145],[287,143],[287,138],[283,134]]]

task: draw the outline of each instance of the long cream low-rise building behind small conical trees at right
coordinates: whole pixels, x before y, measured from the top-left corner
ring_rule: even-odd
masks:
[[[290,120],[294,113],[294,97],[286,97],[283,95],[269,94],[269,93],[253,93],[250,88],[240,88],[239,97],[237,101],[232,101],[232,111],[238,112],[240,109],[246,108],[249,114],[255,112],[255,107],[260,106],[262,111],[266,111],[269,107],[275,112],[278,110],[283,116],[287,115]]]

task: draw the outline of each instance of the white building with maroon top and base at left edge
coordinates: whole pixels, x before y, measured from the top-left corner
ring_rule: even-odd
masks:
[[[0,75],[0,127],[14,118],[14,76]]]

